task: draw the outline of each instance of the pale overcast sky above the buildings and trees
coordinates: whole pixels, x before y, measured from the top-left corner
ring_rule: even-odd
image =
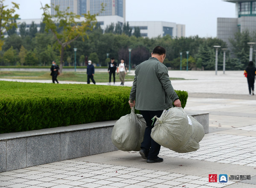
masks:
[[[50,0],[5,0],[20,4],[21,19],[41,18]],[[10,6],[9,6],[10,7]],[[186,37],[216,37],[217,17],[235,17],[235,3],[222,0],[126,0],[126,21],[168,21],[186,25]]]

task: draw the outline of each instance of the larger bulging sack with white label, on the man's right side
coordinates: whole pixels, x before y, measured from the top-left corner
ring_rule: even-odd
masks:
[[[182,107],[164,110],[157,118],[151,131],[151,138],[165,148],[178,153],[198,150],[204,137],[204,127],[192,116],[188,116]]]

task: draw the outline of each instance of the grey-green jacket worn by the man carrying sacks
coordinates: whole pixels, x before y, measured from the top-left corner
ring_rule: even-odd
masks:
[[[137,110],[164,110],[179,97],[172,87],[167,67],[157,58],[149,58],[135,70],[130,100],[136,99]]]

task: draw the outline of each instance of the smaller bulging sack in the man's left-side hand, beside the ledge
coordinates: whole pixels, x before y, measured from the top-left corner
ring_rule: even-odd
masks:
[[[131,113],[122,116],[113,127],[111,140],[122,151],[140,151],[146,128],[146,121],[140,114]]]

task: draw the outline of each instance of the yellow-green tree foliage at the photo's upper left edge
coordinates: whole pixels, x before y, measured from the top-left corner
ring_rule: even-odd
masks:
[[[0,14],[0,38],[3,38],[3,31],[8,31],[12,29],[13,26],[17,28],[17,23],[12,22],[12,20],[17,19],[19,17],[18,14],[15,13],[15,9],[19,9],[19,5],[17,3],[12,2],[12,8],[6,9],[7,6],[3,5],[4,0],[0,0],[1,14]],[[3,40],[0,40],[0,50],[2,50]]]

